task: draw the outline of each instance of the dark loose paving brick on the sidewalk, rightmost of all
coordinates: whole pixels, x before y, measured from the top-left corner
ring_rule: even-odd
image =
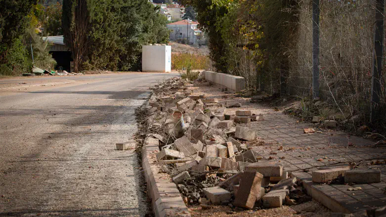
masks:
[[[381,182],[380,170],[350,170],[344,172],[345,183],[365,184]]]

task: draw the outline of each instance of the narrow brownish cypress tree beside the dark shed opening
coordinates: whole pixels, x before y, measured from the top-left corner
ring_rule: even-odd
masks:
[[[84,60],[91,20],[91,0],[63,0],[62,29],[64,43],[70,47],[74,72],[78,73]]]

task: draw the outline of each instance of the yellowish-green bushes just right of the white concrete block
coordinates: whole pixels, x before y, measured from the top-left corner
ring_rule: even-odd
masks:
[[[200,54],[179,53],[172,55],[172,69],[185,70],[188,66],[191,70],[208,69],[211,61],[208,56]]]

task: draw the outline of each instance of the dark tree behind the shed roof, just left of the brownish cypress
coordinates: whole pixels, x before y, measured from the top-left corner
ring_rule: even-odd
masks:
[[[60,36],[62,31],[62,5],[59,2],[47,6],[43,23],[45,36]]]

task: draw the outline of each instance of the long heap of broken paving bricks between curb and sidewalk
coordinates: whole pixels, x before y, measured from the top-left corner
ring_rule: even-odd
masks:
[[[181,78],[151,89],[154,94],[141,113],[146,137],[158,140],[157,163],[172,175],[186,204],[257,209],[309,200],[282,165],[247,147],[259,139],[257,133],[236,125],[263,121],[263,115],[242,108],[226,114],[241,104],[195,94],[193,83]]]

